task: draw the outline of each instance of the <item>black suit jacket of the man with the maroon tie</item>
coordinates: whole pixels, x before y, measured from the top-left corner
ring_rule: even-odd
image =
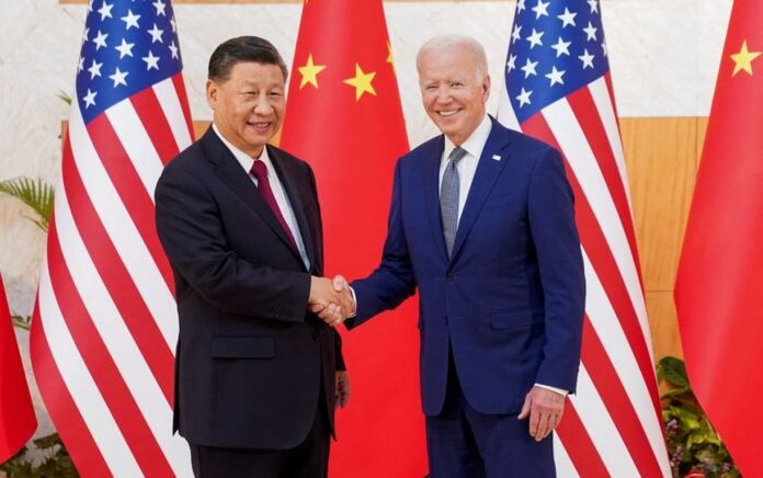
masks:
[[[333,420],[339,334],[307,312],[323,244],[310,167],[267,146],[310,271],[267,203],[209,128],[164,168],[157,230],[172,264],[180,337],[174,426],[189,442],[285,449],[307,435],[324,394]]]

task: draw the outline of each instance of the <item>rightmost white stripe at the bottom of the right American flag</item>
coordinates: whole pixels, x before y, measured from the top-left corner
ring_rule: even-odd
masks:
[[[662,437],[661,423],[654,413],[649,388],[644,382],[628,339],[585,251],[583,251],[583,264],[585,268],[585,312],[636,411],[652,453],[658,457],[657,462],[662,465],[663,473],[670,475],[667,460],[668,449]]]

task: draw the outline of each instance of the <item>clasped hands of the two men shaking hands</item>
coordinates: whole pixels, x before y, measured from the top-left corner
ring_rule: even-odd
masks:
[[[307,308],[328,326],[337,327],[355,315],[356,304],[350,284],[341,275],[333,281],[311,276]]]

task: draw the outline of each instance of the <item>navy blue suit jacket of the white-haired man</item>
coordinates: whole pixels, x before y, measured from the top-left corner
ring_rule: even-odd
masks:
[[[352,285],[357,318],[419,287],[424,413],[445,398],[448,344],[469,403],[519,412],[534,383],[574,390],[584,307],[573,196],[557,150],[492,121],[448,259],[440,217],[442,136],[395,169],[379,268]]]

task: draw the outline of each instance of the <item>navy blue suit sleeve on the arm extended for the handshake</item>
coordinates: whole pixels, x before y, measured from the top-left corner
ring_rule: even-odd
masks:
[[[387,239],[382,263],[366,278],[352,283],[357,298],[357,314],[344,323],[356,327],[385,310],[394,309],[415,292],[415,276],[408,253],[408,242],[402,223],[401,160],[395,167],[392,200],[389,206]]]

